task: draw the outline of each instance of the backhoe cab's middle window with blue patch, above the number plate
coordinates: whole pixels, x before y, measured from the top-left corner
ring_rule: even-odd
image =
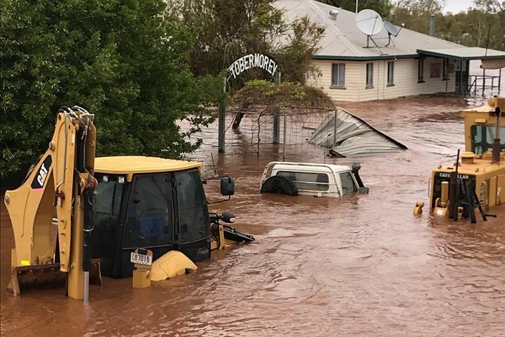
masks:
[[[133,178],[123,248],[167,246],[173,243],[173,203],[168,174]]]

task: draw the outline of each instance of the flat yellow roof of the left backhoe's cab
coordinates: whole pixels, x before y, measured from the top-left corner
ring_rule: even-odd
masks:
[[[95,172],[125,174],[131,182],[133,174],[174,172],[197,167],[202,171],[202,163],[190,160],[175,160],[144,155],[119,155],[95,158]]]

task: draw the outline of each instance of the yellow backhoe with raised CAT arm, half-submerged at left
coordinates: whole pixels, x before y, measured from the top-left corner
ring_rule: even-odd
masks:
[[[219,223],[232,222],[232,213],[209,215],[201,163],[95,158],[93,118],[77,106],[60,108],[46,153],[22,186],[5,193],[15,240],[8,291],[66,276],[67,295],[88,300],[90,272],[98,280],[100,271],[132,276],[134,263],[159,260],[153,274],[181,274],[213,249],[254,241]],[[222,195],[229,199],[234,188],[221,177]]]

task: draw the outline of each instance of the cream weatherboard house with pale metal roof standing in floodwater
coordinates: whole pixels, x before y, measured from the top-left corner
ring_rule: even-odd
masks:
[[[398,26],[390,28],[400,30],[398,36],[386,29],[368,36],[356,25],[356,13],[313,0],[274,4],[288,22],[307,16],[325,28],[320,50],[313,55],[320,74],[307,84],[321,87],[334,101],[466,94],[470,60],[505,58],[503,51],[465,47]]]

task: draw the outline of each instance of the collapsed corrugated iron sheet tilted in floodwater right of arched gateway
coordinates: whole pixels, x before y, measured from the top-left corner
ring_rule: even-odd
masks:
[[[363,157],[407,148],[343,108],[328,113],[308,142],[328,148],[338,157]]]

